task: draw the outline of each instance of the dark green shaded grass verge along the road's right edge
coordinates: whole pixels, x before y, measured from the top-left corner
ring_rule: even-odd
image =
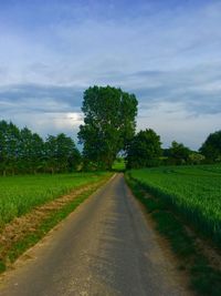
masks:
[[[148,195],[145,187],[128,174],[126,182],[155,221],[157,231],[169,241],[172,252],[179,258],[179,269],[190,275],[190,287],[199,295],[220,296],[221,272],[210,265],[181,218],[166,201]]]

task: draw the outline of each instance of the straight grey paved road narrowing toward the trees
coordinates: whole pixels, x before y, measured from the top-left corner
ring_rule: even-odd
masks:
[[[190,295],[122,174],[28,252],[1,296]]]

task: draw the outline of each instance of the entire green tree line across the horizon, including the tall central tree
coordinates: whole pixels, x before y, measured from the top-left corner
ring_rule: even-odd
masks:
[[[0,121],[0,173],[56,173],[74,170],[110,170],[117,155],[124,155],[127,169],[221,162],[221,131],[208,136],[199,151],[173,141],[162,149],[160,136],[151,129],[136,133],[138,101],[112,86],[85,90],[78,141],[60,133],[43,140],[28,127]]]

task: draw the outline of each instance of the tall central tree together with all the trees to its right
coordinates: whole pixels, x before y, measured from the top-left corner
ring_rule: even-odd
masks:
[[[221,131],[210,134],[198,152],[176,141],[162,150],[160,136],[152,130],[135,134],[137,105],[136,96],[120,89],[93,86],[84,92],[85,116],[78,139],[86,165],[110,169],[122,151],[128,169],[221,161]]]

